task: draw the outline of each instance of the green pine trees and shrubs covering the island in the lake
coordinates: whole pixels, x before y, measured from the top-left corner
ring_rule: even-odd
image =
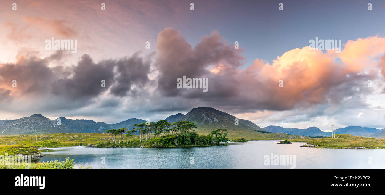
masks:
[[[199,135],[193,128],[196,128],[196,125],[189,121],[171,124],[167,120],[159,120],[156,123],[134,124],[132,130],[107,130],[106,142],[99,142],[96,147],[215,146],[229,141],[226,129],[216,129],[208,135]]]

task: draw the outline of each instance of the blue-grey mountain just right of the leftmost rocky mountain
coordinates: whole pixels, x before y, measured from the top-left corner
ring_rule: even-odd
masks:
[[[78,130],[80,133],[91,133],[91,132],[105,132],[111,127],[105,122],[95,122],[93,120],[85,119],[67,119],[59,117],[60,122],[67,125],[70,128]],[[55,120],[57,121],[57,119]]]

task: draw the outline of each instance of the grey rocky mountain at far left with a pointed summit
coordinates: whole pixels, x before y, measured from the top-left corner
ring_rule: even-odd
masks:
[[[30,117],[23,117],[16,120],[1,120],[1,135],[18,135],[33,133],[79,133],[78,130],[67,125],[56,125],[56,121],[45,118],[41,114],[34,114]]]

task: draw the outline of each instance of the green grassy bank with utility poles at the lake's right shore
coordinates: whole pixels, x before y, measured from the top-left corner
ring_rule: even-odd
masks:
[[[335,135],[335,138],[290,139],[290,142],[306,142],[316,148],[360,148],[385,149],[385,139],[357,137],[353,135]]]

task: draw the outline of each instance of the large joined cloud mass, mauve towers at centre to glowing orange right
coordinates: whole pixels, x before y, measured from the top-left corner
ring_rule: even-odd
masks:
[[[194,98],[202,106],[239,112],[291,110],[328,103],[353,106],[350,102],[362,107],[363,94],[372,93],[367,81],[378,79],[376,67],[371,64],[376,64],[375,58],[385,52],[385,44],[381,45],[384,41],[380,37],[351,40],[340,55],[295,48],[272,64],[256,59],[248,68],[239,69],[241,50],[233,49],[218,32],[204,36],[192,48],[179,31],[165,28],[157,39],[158,89],[166,96]],[[372,71],[363,73],[365,68]],[[176,78],[184,75],[209,78],[209,91],[177,89]],[[279,87],[280,80],[284,87]]]

